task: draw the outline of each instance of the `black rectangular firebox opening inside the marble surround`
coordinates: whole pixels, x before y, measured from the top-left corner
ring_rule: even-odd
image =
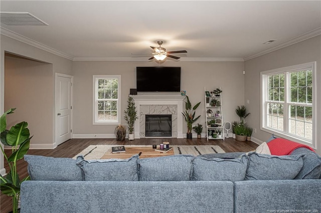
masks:
[[[146,114],[145,115],[146,137],[171,137],[172,114]]]

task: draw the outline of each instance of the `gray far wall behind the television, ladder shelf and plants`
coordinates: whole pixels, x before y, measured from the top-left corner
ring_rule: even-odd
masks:
[[[181,66],[181,89],[186,90],[192,104],[202,101],[196,114],[205,125],[204,87],[214,90],[221,86],[224,119],[238,119],[234,110],[244,104],[244,62],[187,62],[166,61],[164,66]],[[121,75],[121,112],[126,108],[129,88],[136,87],[136,66],[157,66],[154,61],[74,61],[74,134],[113,134],[115,125],[92,124],[94,74]],[[166,82],[165,82],[166,83]],[[182,115],[183,116],[183,115]],[[122,114],[122,124],[126,124]],[[185,122],[185,121],[184,121]],[[196,124],[196,123],[195,123]],[[184,123],[183,132],[187,131]],[[203,129],[206,131],[206,128]],[[81,135],[79,135],[81,136]]]

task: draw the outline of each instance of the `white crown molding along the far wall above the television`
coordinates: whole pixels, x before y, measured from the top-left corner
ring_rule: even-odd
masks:
[[[74,57],[74,61],[148,61],[149,57]],[[242,57],[181,57],[175,61],[244,61]]]

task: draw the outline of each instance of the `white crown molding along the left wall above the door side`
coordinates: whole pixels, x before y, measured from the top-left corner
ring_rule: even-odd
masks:
[[[13,38],[15,40],[19,40],[21,42],[24,42],[24,43],[27,43],[29,45],[35,46],[35,47],[40,48],[42,50],[45,50],[47,52],[53,53],[55,55],[67,58],[69,60],[72,60],[74,58],[71,55],[68,55],[66,53],[63,53],[63,52],[57,50],[57,49],[51,48],[49,46],[46,46],[45,44],[42,44],[42,43],[40,43],[38,41],[30,39],[30,38],[28,38],[28,37],[26,37],[24,35],[21,35],[21,34],[19,34],[17,32],[11,31],[11,30],[3,27],[3,26],[0,26],[0,33],[3,34],[3,35],[6,35],[8,37],[11,37],[11,38]]]

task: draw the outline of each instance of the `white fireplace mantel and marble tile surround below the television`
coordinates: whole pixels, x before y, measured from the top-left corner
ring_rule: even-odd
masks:
[[[139,94],[132,95],[138,119],[135,121],[135,138],[145,137],[146,114],[172,114],[172,137],[183,136],[183,100],[180,94]]]

